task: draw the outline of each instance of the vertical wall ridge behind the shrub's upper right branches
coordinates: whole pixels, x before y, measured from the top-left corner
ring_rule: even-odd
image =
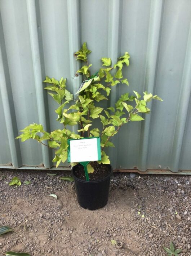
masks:
[[[119,57],[119,38],[121,37],[119,33],[119,25],[120,25],[120,0],[112,0],[110,1],[109,6],[109,27],[108,27],[108,57],[111,58],[112,61],[116,61]],[[112,88],[110,93],[110,106],[115,107],[116,98],[118,96],[119,87],[117,85]],[[115,135],[113,142],[115,147],[118,147],[117,134]],[[118,150],[117,150],[118,152]],[[117,164],[117,153],[116,150],[110,149],[110,159],[112,159],[112,166],[115,169]]]

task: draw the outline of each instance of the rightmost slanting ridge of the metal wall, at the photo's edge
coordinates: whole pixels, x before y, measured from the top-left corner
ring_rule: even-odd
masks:
[[[174,140],[170,159],[170,170],[178,172],[179,161],[181,158],[183,137],[188,115],[188,109],[191,96],[191,25],[188,35],[187,49],[185,55],[185,63],[183,68],[181,92],[179,95],[178,112],[176,118],[176,126],[174,131]]]

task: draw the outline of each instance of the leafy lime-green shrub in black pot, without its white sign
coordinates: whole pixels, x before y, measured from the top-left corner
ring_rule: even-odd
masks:
[[[21,141],[35,139],[54,149],[53,163],[56,163],[56,167],[67,160],[70,144],[68,142],[71,139],[100,138],[100,160],[86,163],[84,166],[76,162],[71,163],[77,199],[82,207],[94,210],[105,206],[108,200],[112,167],[105,150],[107,147],[115,147],[111,142],[112,137],[125,123],[144,120],[140,113],[150,113],[147,102],[151,99],[161,101],[161,98],[144,92],[141,99],[138,92],[133,91],[133,96],[127,92],[117,100],[115,108],[103,109],[100,102],[108,100],[114,86],[121,83],[129,85],[122,71],[124,65],[129,66],[130,56],[125,52],[114,65],[110,58],[102,58],[101,68],[91,75],[92,64],[88,63],[87,58],[90,53],[86,43],[75,53],[76,60],[83,63],[76,71],[76,74],[83,76],[83,83],[76,92],[76,98],[66,89],[66,79],[63,77],[56,80],[46,76],[44,80],[44,83],[48,84],[45,89],[59,105],[55,112],[58,114],[57,121],[63,124],[63,129],[47,132],[42,125],[33,123],[21,130],[22,134],[17,138],[21,138]],[[98,129],[98,121],[101,122],[102,129]],[[77,133],[70,129],[72,126],[77,127]],[[44,140],[47,142],[44,143]],[[88,175],[85,175],[84,167],[87,167]]]

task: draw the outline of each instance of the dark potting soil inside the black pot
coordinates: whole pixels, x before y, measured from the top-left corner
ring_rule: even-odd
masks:
[[[107,177],[111,172],[111,166],[109,164],[98,164],[97,162],[90,163],[94,168],[93,173],[89,173],[89,180],[96,181]],[[81,179],[86,180],[84,167],[81,164],[77,164],[74,167],[74,175]]]

